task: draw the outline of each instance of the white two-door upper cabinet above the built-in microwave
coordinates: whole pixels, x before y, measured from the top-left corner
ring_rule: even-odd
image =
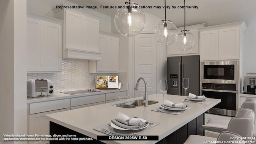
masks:
[[[200,60],[238,60],[243,47],[245,22],[200,29]]]

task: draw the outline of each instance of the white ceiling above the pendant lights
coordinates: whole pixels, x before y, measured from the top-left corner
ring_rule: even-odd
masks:
[[[68,0],[80,6],[97,6],[97,12],[114,17],[118,9],[103,9],[100,6],[123,6],[128,0]],[[139,6],[164,6],[164,0],[132,0]],[[166,6],[184,6],[184,0],[166,0]],[[186,26],[207,23],[208,26],[245,21],[247,26],[256,26],[256,0],[186,0]],[[142,9],[164,19],[164,9]],[[177,27],[184,26],[184,9],[166,9],[166,19]],[[255,30],[255,29],[254,29]]]

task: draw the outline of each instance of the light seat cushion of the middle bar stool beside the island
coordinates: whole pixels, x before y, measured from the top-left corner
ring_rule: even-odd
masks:
[[[210,119],[207,124],[202,125],[202,129],[213,132],[223,132],[228,129],[229,121],[230,120]]]

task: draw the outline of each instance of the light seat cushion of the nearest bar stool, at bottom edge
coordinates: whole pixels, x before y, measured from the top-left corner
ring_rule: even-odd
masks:
[[[198,135],[190,135],[184,144],[205,144],[207,142],[216,141],[217,138],[212,138],[208,136],[198,136]],[[210,143],[211,144],[211,143]]]

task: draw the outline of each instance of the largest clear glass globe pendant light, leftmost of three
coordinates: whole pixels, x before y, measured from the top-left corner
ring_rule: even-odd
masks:
[[[124,8],[118,9],[114,18],[116,30],[124,36],[136,36],[145,26],[145,14],[140,6],[130,0],[124,4]]]

